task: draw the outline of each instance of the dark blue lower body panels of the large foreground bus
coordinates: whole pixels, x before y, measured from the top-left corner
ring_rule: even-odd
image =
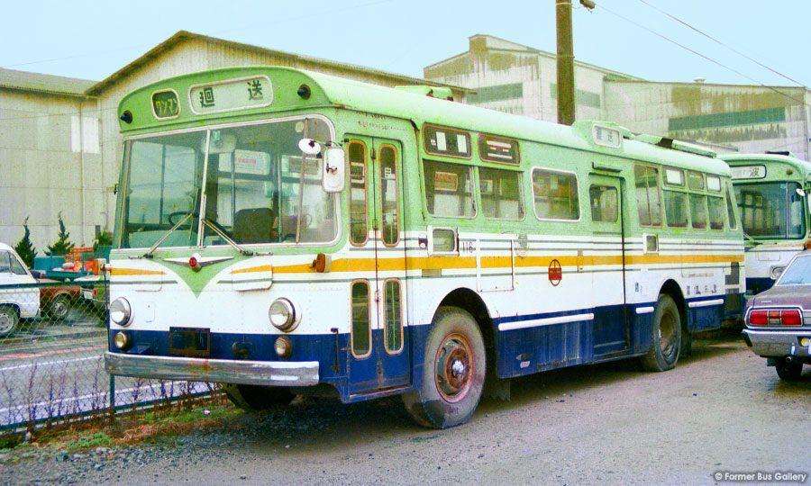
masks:
[[[724,305],[715,298],[692,299],[686,305],[688,329],[717,329]],[[706,302],[702,302],[706,301]],[[494,320],[496,373],[499,378],[533,374],[570,365],[598,363],[639,356],[650,347],[656,302],[607,306],[579,311],[509,316]],[[627,323],[627,324],[626,324]],[[498,330],[500,329],[500,330]],[[209,336],[208,359],[244,359],[319,363],[319,381],[333,385],[342,401],[363,401],[382,394],[405,392],[422,385],[424,343],[431,326],[406,326],[403,348],[385,351],[382,330],[371,336],[368,356],[350,353],[348,334],[286,335],[293,348],[287,360],[279,358],[274,343],[279,335],[223,334]],[[169,332],[124,329],[132,342],[126,354],[172,356]],[[114,347],[109,336],[108,348]],[[202,356],[201,356],[202,357]]]

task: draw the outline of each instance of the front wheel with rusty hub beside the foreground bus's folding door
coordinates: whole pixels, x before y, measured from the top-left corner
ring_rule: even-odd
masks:
[[[481,399],[487,369],[476,320],[458,307],[441,307],[424,351],[422,386],[403,395],[405,410],[427,428],[467,422]]]

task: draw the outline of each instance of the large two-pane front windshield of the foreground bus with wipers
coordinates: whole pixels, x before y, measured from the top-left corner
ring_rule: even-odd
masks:
[[[329,127],[301,119],[128,141],[121,247],[333,241],[336,195],[302,138],[330,140]]]

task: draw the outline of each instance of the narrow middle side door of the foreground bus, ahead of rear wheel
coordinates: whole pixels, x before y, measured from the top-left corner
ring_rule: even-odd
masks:
[[[594,357],[621,354],[630,347],[625,315],[623,180],[588,176],[593,248],[591,266],[594,303]]]

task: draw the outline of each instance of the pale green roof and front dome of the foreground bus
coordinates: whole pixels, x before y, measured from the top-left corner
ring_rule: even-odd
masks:
[[[357,112],[369,112],[413,121],[418,127],[422,127],[424,123],[431,123],[508,138],[539,141],[606,156],[652,161],[662,165],[678,166],[718,175],[730,174],[729,167],[715,157],[697,155],[697,150],[679,150],[676,149],[676,145],[673,146],[674,148],[654,145],[652,139],[658,138],[635,139],[628,130],[616,127],[610,122],[597,123],[613,126],[620,130],[624,134],[623,149],[595,144],[591,139],[591,127],[595,121],[578,121],[573,126],[560,125],[291,67],[225,67],[168,78],[144,86],[124,96],[120,103],[120,115],[125,111],[134,113],[134,110],[141,113],[137,123],[135,121],[122,122],[122,131],[126,134],[134,130],[143,132],[145,129],[181,128],[189,124],[199,126],[204,122],[222,122],[223,113],[218,113],[218,116],[193,112],[188,105],[191,96],[186,95],[190,87],[205,84],[215,85],[224,80],[260,75],[268,76],[272,80],[273,105],[264,110],[251,108],[242,112],[225,113],[230,118],[250,115],[255,119],[258,118],[257,115],[262,113],[267,115],[268,112],[288,112],[294,109],[312,110],[324,106],[337,106]],[[296,90],[303,84],[306,84],[311,90],[306,99],[301,99],[296,95]],[[169,88],[178,93],[178,101],[181,103],[180,114],[173,120],[156,121],[153,113],[150,112],[150,95]],[[148,110],[145,110],[144,107]]]

